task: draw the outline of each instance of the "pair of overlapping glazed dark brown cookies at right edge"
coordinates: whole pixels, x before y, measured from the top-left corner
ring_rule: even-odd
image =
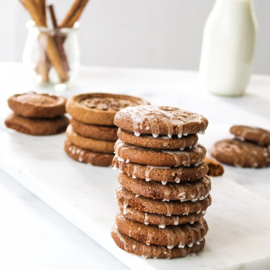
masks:
[[[236,167],[270,166],[270,131],[248,126],[233,126],[233,139],[218,141],[210,154],[219,162]]]

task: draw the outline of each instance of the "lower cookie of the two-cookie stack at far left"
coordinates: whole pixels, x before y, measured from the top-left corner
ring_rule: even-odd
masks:
[[[57,116],[54,118],[27,118],[10,114],[5,119],[5,125],[18,132],[28,135],[54,135],[66,130],[69,119],[66,116]]]

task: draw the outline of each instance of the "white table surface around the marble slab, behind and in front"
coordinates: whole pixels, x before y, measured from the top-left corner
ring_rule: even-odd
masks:
[[[0,64],[0,85],[0,102],[13,93],[36,89],[30,85],[22,66],[12,63]],[[139,95],[152,104],[200,112],[209,119],[210,129],[211,124],[234,123],[270,127],[269,86],[270,77],[254,76],[243,98],[220,98],[202,90],[195,72],[85,67],[76,87],[64,94],[72,96],[75,92],[102,91]],[[258,177],[254,181],[248,170],[243,177],[236,168],[226,166],[225,169],[230,178],[270,200],[267,179]],[[90,265],[102,269],[126,268],[9,176],[0,173],[0,197],[4,200],[1,206],[11,208],[9,212],[5,211],[6,207],[0,208],[5,217],[1,219],[0,234],[10,244],[6,248],[7,242],[0,242],[0,254],[5,254],[5,260],[0,260],[1,269],[8,269],[8,264],[12,269],[11,258],[19,258],[13,269],[17,268],[16,263],[21,269],[87,269]],[[31,204],[25,201],[31,201]],[[51,259],[47,260],[49,256]]]

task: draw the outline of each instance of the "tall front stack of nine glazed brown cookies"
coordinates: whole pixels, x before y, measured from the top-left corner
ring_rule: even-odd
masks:
[[[120,110],[114,123],[113,166],[120,170],[115,243],[144,258],[200,251],[211,181],[197,133],[204,133],[207,119],[179,108],[137,106]]]

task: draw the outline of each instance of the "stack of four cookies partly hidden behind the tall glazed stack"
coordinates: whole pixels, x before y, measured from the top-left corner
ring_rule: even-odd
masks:
[[[118,138],[114,115],[121,108],[141,104],[149,103],[132,96],[104,93],[72,97],[66,104],[72,119],[66,131],[65,152],[79,162],[110,166]]]

